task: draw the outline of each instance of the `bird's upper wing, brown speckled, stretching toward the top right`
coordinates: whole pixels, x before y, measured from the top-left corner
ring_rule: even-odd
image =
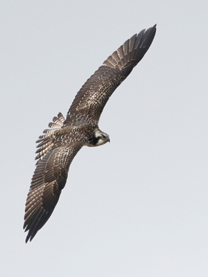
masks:
[[[144,57],[155,37],[156,25],[141,30],[124,42],[78,91],[69,108],[64,125],[98,123],[103,108],[114,90]]]

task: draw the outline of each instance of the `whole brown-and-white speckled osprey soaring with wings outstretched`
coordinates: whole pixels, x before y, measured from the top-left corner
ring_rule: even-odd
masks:
[[[26,242],[49,220],[67,182],[69,166],[84,145],[96,147],[110,142],[98,127],[107,100],[144,57],[153,42],[155,26],[141,30],[124,42],[76,94],[66,118],[59,113],[36,141],[37,160],[26,198],[24,230]]]

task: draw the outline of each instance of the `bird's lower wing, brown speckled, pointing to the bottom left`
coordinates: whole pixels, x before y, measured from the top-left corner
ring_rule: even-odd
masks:
[[[64,188],[69,166],[83,143],[64,145],[58,140],[37,163],[26,199],[24,229],[26,242],[33,240],[37,231],[49,220]]]

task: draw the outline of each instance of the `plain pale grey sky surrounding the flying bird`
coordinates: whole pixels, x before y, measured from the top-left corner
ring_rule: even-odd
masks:
[[[208,276],[207,1],[0,1],[1,276]],[[126,39],[144,59],[25,244],[35,141]]]

